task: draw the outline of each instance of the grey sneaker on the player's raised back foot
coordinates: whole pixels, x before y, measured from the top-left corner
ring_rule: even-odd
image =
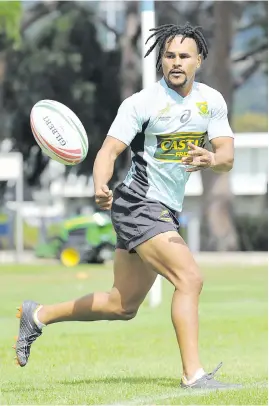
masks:
[[[24,367],[28,362],[32,343],[42,334],[42,330],[37,327],[33,318],[34,311],[39,306],[39,303],[25,300],[18,309],[17,317],[20,318],[20,328],[14,348],[17,363],[21,367]]]

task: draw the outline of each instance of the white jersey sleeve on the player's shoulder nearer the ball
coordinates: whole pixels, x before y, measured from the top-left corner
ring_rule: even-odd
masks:
[[[136,134],[142,131],[143,118],[139,114],[137,94],[125,99],[108,131],[108,135],[130,145]]]

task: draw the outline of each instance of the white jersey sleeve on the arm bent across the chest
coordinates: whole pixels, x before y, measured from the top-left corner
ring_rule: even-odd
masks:
[[[214,99],[212,99],[211,117],[207,132],[209,141],[218,137],[234,138],[228,121],[227,104],[219,92],[216,92]]]

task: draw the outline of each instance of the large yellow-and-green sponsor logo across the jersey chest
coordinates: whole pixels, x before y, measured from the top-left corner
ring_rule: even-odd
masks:
[[[154,158],[159,161],[180,162],[182,157],[188,156],[188,151],[190,150],[188,142],[191,142],[198,147],[203,147],[206,135],[206,132],[180,132],[157,135],[157,147],[154,153]]]

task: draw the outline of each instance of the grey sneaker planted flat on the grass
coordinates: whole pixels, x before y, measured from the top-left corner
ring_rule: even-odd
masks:
[[[241,388],[241,385],[219,382],[214,379],[216,372],[221,368],[222,362],[214,369],[214,371],[209,374],[205,374],[202,378],[197,379],[197,381],[188,385],[185,384],[182,380],[180,386],[183,389],[236,389]]]

